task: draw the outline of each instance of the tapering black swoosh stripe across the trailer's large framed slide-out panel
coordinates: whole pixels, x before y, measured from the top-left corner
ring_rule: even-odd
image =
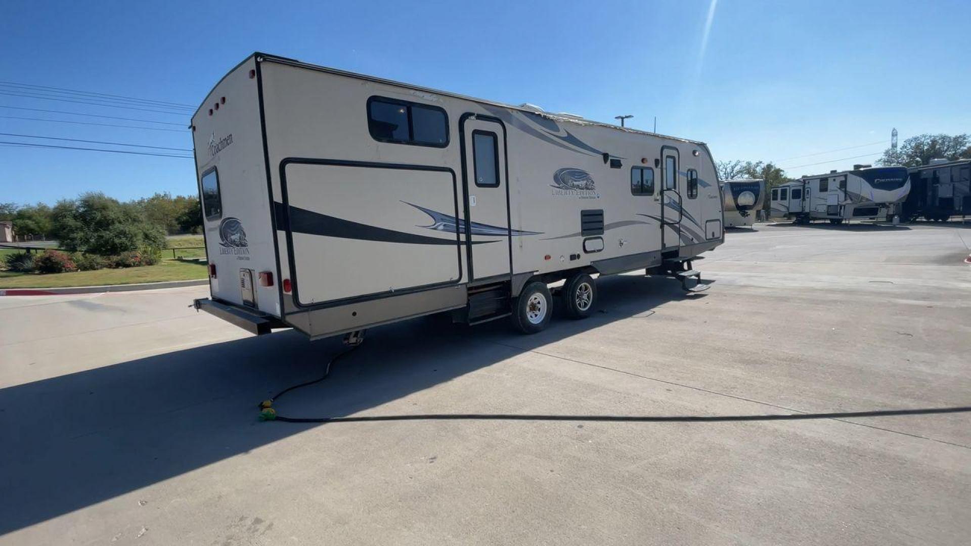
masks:
[[[308,235],[321,235],[324,237],[337,237],[339,239],[357,239],[360,241],[378,241],[382,243],[402,243],[406,245],[458,245],[455,239],[443,239],[440,237],[427,237],[416,235],[415,233],[405,233],[368,225],[366,223],[352,222],[322,215],[299,207],[289,207],[287,211],[289,217],[290,231],[293,233],[305,233]],[[475,241],[473,244],[494,243],[496,241]]]

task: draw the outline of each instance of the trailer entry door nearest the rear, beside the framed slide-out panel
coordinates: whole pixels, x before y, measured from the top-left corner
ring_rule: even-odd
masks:
[[[469,280],[512,274],[506,143],[497,121],[462,123]]]

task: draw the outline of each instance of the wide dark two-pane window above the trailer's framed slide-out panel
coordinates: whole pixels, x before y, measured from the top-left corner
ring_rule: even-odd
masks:
[[[449,144],[449,119],[437,106],[371,97],[367,121],[371,138],[377,141],[436,148]]]

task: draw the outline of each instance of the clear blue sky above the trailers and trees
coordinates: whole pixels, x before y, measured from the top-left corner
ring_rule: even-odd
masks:
[[[793,176],[871,161],[877,155],[801,166],[879,153],[892,127],[901,142],[971,132],[966,1],[720,0],[710,25],[710,0],[279,6],[6,0],[0,81],[195,106],[251,51],[267,51],[590,119],[632,114],[630,125],[649,130],[657,116],[658,132],[705,141],[716,159],[772,160]],[[6,94],[0,105],[188,122]],[[9,108],[0,116],[112,122]],[[0,132],[191,148],[178,130],[0,118]],[[868,146],[818,154],[859,145]],[[195,188],[183,158],[0,145],[0,202]]]

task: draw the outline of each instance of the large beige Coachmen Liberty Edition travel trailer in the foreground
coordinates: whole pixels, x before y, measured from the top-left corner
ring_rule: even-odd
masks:
[[[312,338],[432,313],[575,318],[593,276],[700,290],[723,241],[700,142],[254,53],[192,117],[211,298],[254,333]]]

